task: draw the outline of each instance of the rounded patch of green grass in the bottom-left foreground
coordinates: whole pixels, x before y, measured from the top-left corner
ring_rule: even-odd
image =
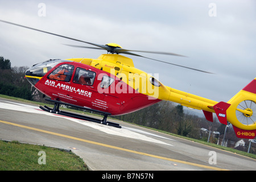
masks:
[[[71,151],[0,140],[0,171],[88,171]]]

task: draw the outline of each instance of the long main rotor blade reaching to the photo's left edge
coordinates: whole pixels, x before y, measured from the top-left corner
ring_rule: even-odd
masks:
[[[105,45],[100,45],[100,44],[94,44],[94,43],[90,43],[90,42],[85,42],[85,41],[83,41],[83,40],[69,38],[69,37],[67,37],[67,36],[63,36],[63,35],[59,35],[59,34],[53,34],[53,33],[51,33],[51,32],[47,32],[47,31],[43,31],[43,30],[38,30],[38,29],[36,29],[36,28],[31,28],[31,27],[27,27],[27,26],[23,26],[23,25],[21,25],[21,24],[16,24],[16,23],[7,22],[7,21],[1,20],[1,19],[0,19],[0,22],[9,23],[9,24],[13,24],[13,25],[18,26],[18,27],[28,28],[28,29],[30,29],[30,30],[35,30],[35,31],[39,31],[39,32],[46,33],[46,34],[59,36],[59,37],[61,37],[61,38],[65,38],[65,39],[75,40],[75,41],[78,41],[78,42],[82,42],[82,43],[90,44],[90,45],[93,45],[93,46],[96,46],[96,47],[100,47],[100,48],[105,49],[105,50],[108,50],[108,48],[109,48],[108,46],[105,46]]]

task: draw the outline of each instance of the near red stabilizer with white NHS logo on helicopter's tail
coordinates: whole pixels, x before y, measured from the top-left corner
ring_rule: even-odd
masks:
[[[220,123],[227,125],[227,119],[226,119],[226,110],[229,108],[230,104],[226,102],[218,102],[218,104],[213,106],[213,109],[218,117],[218,121]]]

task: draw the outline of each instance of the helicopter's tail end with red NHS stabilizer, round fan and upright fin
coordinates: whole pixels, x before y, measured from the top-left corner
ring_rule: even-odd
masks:
[[[218,102],[214,106],[218,120],[227,124],[232,123],[238,138],[253,139],[256,136],[256,78],[238,92],[227,103]],[[209,117],[208,111],[204,111],[205,117]],[[211,118],[210,118],[211,119]],[[208,119],[209,120],[209,119]]]

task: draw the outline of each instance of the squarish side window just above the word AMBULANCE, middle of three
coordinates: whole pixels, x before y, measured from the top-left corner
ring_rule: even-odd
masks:
[[[73,82],[75,82],[76,84],[91,86],[93,85],[95,77],[96,77],[95,72],[82,69],[82,68],[77,68]]]

